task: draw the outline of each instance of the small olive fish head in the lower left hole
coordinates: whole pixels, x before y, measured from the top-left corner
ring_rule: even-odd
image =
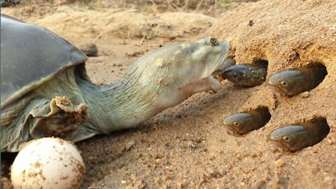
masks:
[[[271,114],[267,107],[261,107],[252,111],[232,114],[224,119],[223,125],[237,134],[246,134],[263,127],[270,118]]]

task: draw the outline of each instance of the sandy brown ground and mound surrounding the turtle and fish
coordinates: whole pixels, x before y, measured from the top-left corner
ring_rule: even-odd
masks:
[[[311,62],[328,71],[320,85],[295,97],[265,83],[244,88],[226,81],[216,94],[195,94],[137,128],[78,142],[87,169],[82,188],[336,188],[336,1],[262,0],[214,15],[47,5],[1,13],[75,45],[94,42],[98,57],[89,58],[87,71],[101,85],[121,78],[150,50],[207,35],[230,41],[238,64],[267,60],[267,78]],[[230,113],[256,106],[269,107],[272,118],[265,127],[237,136],[221,125]],[[323,116],[330,126],[320,143],[290,153],[267,141],[277,127],[311,116]]]

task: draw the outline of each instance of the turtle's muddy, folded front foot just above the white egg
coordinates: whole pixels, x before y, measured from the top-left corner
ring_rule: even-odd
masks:
[[[73,105],[66,97],[55,97],[44,106],[32,109],[34,118],[30,134],[33,138],[69,137],[88,119],[87,104]]]

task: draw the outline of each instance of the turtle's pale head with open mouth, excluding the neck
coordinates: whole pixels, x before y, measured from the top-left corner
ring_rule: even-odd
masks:
[[[223,64],[232,65],[232,62],[225,62],[230,50],[230,43],[222,43],[213,37],[175,45],[170,67],[176,74],[174,83],[188,93],[187,96],[204,90],[219,90],[221,83],[211,73],[220,66],[225,67]]]

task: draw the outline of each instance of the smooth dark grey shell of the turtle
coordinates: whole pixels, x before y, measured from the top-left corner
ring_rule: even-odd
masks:
[[[1,14],[1,109],[86,60],[52,31]]]

